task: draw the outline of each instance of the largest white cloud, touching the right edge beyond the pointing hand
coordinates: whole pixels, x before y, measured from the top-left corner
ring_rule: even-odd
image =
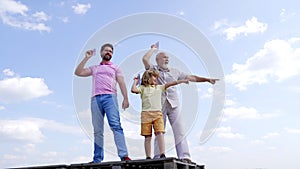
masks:
[[[239,90],[246,90],[252,84],[268,83],[270,79],[278,82],[300,73],[299,38],[271,40],[264,48],[250,57],[246,63],[232,66],[232,74],[226,76],[226,81]]]

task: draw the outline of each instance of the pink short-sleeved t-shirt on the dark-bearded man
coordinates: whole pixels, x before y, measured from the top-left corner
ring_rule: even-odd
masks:
[[[89,67],[93,76],[92,96],[99,94],[117,94],[117,76],[123,76],[121,70],[112,62]]]

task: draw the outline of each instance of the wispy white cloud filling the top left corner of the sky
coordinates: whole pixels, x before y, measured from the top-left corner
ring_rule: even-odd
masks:
[[[37,12],[32,16],[28,12],[28,7],[21,2],[14,0],[0,1],[0,18],[4,24],[26,30],[51,31],[50,27],[41,22],[49,18],[44,12]]]

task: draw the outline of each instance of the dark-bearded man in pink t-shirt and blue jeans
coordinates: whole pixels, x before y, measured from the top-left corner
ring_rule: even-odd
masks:
[[[104,159],[103,131],[105,115],[113,131],[118,156],[122,161],[131,160],[128,157],[123,128],[120,122],[116,86],[117,84],[119,85],[123,95],[123,109],[129,107],[127,89],[121,70],[110,61],[112,54],[113,46],[104,44],[100,50],[102,58],[100,64],[85,68],[87,61],[94,55],[93,50],[86,51],[85,57],[75,70],[75,75],[77,76],[93,77],[91,111],[94,128],[94,157],[91,163],[100,163]]]

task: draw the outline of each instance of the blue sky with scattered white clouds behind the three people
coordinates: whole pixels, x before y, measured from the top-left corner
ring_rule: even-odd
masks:
[[[129,88],[143,71],[142,55],[159,41],[170,66],[220,78],[214,86],[178,86],[192,161],[207,169],[297,169],[299,6],[290,0],[0,0],[1,168],[92,160],[91,79],[75,77],[74,69],[85,50],[99,52],[107,41],[128,90],[130,107],[120,112],[129,156],[143,159],[140,98]],[[99,61],[98,53],[87,65]],[[222,101],[215,100],[218,85]],[[222,102],[218,112],[215,102]],[[201,141],[212,113],[215,130]],[[169,124],[166,130],[166,156],[176,157]],[[107,126],[105,141],[104,161],[118,161]]]

